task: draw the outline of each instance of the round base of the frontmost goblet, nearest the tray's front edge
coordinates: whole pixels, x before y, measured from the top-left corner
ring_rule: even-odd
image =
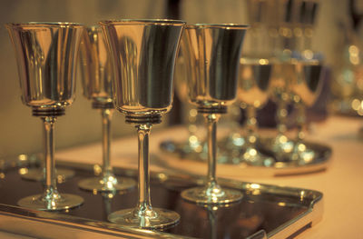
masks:
[[[177,224],[180,218],[179,214],[162,208],[152,208],[142,215],[138,208],[124,209],[108,216],[108,220],[113,224],[144,229],[170,227]]]

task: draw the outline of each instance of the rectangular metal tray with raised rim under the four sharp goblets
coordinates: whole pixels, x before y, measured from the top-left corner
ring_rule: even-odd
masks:
[[[108,223],[106,218],[113,211],[133,207],[137,190],[114,195],[80,190],[78,181],[94,175],[96,167],[91,164],[57,162],[58,167],[74,169],[74,178],[61,182],[58,188],[61,193],[83,196],[80,207],[50,213],[16,206],[20,198],[43,190],[39,182],[21,178],[25,166],[32,166],[28,163],[0,164],[0,230],[37,238],[293,238],[322,216],[322,194],[317,191],[221,178],[222,185],[244,193],[242,201],[226,207],[202,207],[185,202],[180,193],[203,184],[203,178],[152,173],[152,205],[178,212],[181,221],[163,232],[131,229]],[[137,178],[131,169],[115,168],[115,173]]]

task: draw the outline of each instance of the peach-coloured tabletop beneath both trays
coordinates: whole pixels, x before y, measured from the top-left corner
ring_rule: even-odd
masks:
[[[319,224],[315,224],[296,238],[362,238],[360,225],[363,221],[363,140],[358,139],[358,129],[363,126],[361,118],[331,116],[325,122],[313,124],[307,135],[309,141],[328,144],[333,149],[331,164],[326,171],[289,176],[260,176],[253,174],[228,174],[222,170],[217,174],[240,181],[261,184],[278,184],[314,189],[324,194],[324,214]],[[150,152],[152,155],[151,169],[153,171],[176,171],[165,160],[159,144],[165,139],[186,138],[187,131],[179,126],[152,132]],[[89,144],[58,151],[56,158],[101,164],[101,144]],[[163,160],[160,160],[162,158]],[[136,134],[117,139],[112,144],[112,164],[122,167],[137,167]],[[206,174],[207,166],[189,167],[192,174]],[[238,167],[238,166],[237,166]],[[227,167],[228,168],[228,167]],[[182,173],[183,169],[178,170]],[[235,170],[234,170],[235,171]],[[243,172],[243,171],[241,171]],[[16,234],[0,232],[1,238],[29,238]]]

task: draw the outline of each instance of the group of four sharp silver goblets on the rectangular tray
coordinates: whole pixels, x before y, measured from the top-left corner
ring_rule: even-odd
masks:
[[[131,209],[113,212],[108,220],[138,228],[176,224],[180,215],[152,207],[149,137],[152,124],[172,108],[173,74],[180,42],[188,68],[188,95],[208,126],[207,183],[182,192],[196,204],[239,202],[239,190],[221,188],[216,180],[216,124],[237,95],[240,53],[247,25],[186,25],[177,20],[102,21],[100,26],[73,23],[7,24],[18,65],[23,103],[44,122],[44,193],[18,201],[26,208],[68,210],[83,204],[75,194],[58,192],[54,163],[54,124],[74,102],[78,52],[83,95],[101,112],[103,170],[99,177],[79,182],[94,192],[117,192],[135,187],[117,177],[110,164],[113,108],[137,129],[138,201]],[[41,174],[41,173],[40,173]],[[59,174],[59,172],[58,172]]]

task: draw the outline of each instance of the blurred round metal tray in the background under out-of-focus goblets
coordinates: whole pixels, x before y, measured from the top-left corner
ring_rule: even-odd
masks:
[[[259,145],[260,151],[270,155],[274,158],[273,153],[270,151],[271,138],[263,138],[261,144]],[[221,144],[221,142],[220,142]],[[282,176],[291,174],[309,174],[314,172],[319,172],[328,168],[330,163],[330,156],[332,150],[329,146],[314,142],[306,142],[307,147],[315,152],[315,156],[309,162],[303,162],[299,164],[297,161],[292,161],[286,159],[284,161],[279,161],[268,166],[264,165],[251,165],[240,163],[239,155],[240,152],[235,152],[232,149],[222,150],[218,158],[218,174],[220,176],[228,177],[240,177],[240,176]],[[207,153],[196,153],[192,152],[190,149],[185,147],[184,142],[176,141],[163,141],[160,144],[161,151],[165,153],[164,164],[168,167],[173,168],[178,171],[183,171],[183,173],[191,174],[204,174],[206,172],[207,166]],[[225,147],[221,145],[220,148]],[[232,157],[238,159],[237,162]]]

